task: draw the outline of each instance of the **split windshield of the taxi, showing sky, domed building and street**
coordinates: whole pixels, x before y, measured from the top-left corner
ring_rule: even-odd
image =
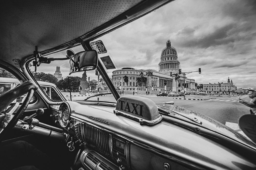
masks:
[[[250,101],[256,84],[255,11],[250,1],[174,1],[93,41],[105,45],[99,61],[120,96],[173,101],[239,130],[239,117],[250,113],[239,100]],[[61,51],[47,57],[65,56]],[[96,70],[69,75],[68,61],[30,69],[69,100],[116,102],[112,94],[87,99],[113,92]]]

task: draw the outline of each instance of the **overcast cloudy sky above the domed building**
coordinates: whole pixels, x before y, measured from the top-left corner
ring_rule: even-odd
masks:
[[[170,39],[182,72],[201,68],[201,74],[190,73],[188,78],[208,84],[226,83],[229,77],[237,88],[253,88],[255,20],[254,0],[176,0],[99,39],[118,69],[158,70],[161,51]],[[61,71],[65,78],[65,68]]]

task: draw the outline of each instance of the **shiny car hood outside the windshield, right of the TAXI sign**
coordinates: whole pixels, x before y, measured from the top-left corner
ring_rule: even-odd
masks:
[[[200,122],[201,124],[196,123],[196,122],[195,122],[195,124],[198,124],[199,126],[205,128],[205,129],[211,130],[215,133],[218,133],[218,134],[228,137],[230,139],[236,140],[240,143],[244,143],[244,144],[246,143],[250,146],[256,147],[255,143],[248,140],[245,136],[241,135],[237,131],[229,128],[228,126],[226,126],[226,125],[222,124],[221,122],[218,122],[208,116],[200,114],[200,113],[193,111],[186,107],[169,105],[169,104],[159,104],[159,106],[162,106],[161,109],[164,109],[165,111],[169,112],[168,116],[178,117],[182,120],[187,120],[187,121],[190,121],[190,120],[184,118],[183,116],[186,116],[190,119],[198,120],[198,122]],[[193,122],[193,121],[191,121],[191,122]]]

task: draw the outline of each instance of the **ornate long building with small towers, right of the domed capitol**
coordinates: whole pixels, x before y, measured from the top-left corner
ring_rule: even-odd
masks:
[[[233,84],[233,81],[229,79],[227,83],[209,83],[203,84],[203,89],[200,91],[207,92],[208,94],[234,94],[237,93],[237,87]]]

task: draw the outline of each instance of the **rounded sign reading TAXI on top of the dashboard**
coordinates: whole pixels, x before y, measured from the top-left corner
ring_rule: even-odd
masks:
[[[162,120],[156,104],[150,99],[139,96],[120,97],[114,113],[136,120],[140,124],[154,125]]]

